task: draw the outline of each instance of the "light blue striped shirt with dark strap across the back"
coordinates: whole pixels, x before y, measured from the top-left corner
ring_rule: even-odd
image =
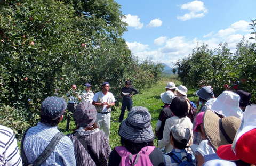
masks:
[[[27,131],[23,148],[28,163],[33,163],[37,159],[58,132],[60,131],[57,126],[49,127],[41,122]],[[65,136],[60,139],[52,154],[42,165],[76,165],[74,153],[73,143]]]

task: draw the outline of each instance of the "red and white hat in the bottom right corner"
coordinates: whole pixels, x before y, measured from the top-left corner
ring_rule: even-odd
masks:
[[[256,104],[246,107],[233,144],[221,145],[217,154],[224,160],[243,160],[256,164]]]

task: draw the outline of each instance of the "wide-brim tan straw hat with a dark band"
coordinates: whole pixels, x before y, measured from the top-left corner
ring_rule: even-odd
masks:
[[[203,116],[204,134],[215,151],[221,145],[233,143],[240,123],[239,118],[234,116],[220,118],[211,110],[205,111]]]

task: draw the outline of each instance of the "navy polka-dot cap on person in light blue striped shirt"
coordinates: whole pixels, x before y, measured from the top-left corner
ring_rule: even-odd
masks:
[[[41,104],[41,115],[56,120],[67,109],[67,102],[62,97],[47,97]]]

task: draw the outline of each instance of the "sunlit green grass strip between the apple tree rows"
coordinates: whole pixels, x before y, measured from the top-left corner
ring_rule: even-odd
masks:
[[[161,101],[160,94],[165,92],[165,86],[167,82],[174,81],[175,84],[178,86],[180,85],[180,82],[172,79],[162,79],[159,81],[159,84],[156,84],[150,89],[146,89],[143,92],[140,92],[137,95],[134,95],[133,98],[133,107],[134,106],[143,106],[148,109],[148,111],[151,114],[152,120],[151,124],[153,129],[156,126],[156,122],[158,119],[159,112],[161,111],[163,106],[163,102]],[[136,87],[135,87],[136,88]],[[194,102],[196,104],[197,102],[197,96],[193,95],[195,93],[194,89],[188,90],[188,98],[190,101]],[[110,127],[110,137],[109,137],[109,144],[111,148],[114,148],[115,146],[119,146],[120,144],[120,137],[118,135],[118,127],[120,123],[118,123],[119,114],[121,113],[121,107],[116,107],[115,111],[112,111],[111,113],[111,127]],[[125,112],[124,119],[127,117],[128,111]],[[74,120],[71,119],[69,124],[70,129],[75,129],[75,123]],[[62,131],[64,134],[68,134],[70,132],[73,132],[71,130],[65,131],[66,129],[66,118],[63,119],[60,124],[58,125],[60,131]],[[154,140],[154,144],[157,145],[157,138]]]

